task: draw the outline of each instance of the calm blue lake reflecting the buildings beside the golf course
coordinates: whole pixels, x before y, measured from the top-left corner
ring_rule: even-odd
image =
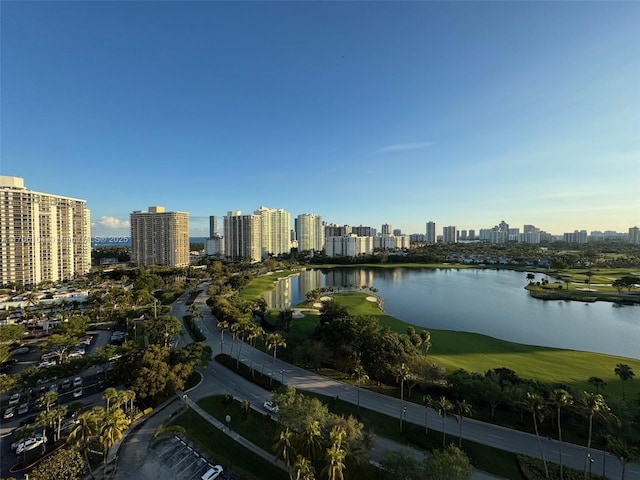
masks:
[[[526,273],[510,270],[310,270],[280,281],[265,298],[283,308],[314,288],[374,286],[388,314],[414,325],[640,358],[640,306],[537,300],[526,283]]]

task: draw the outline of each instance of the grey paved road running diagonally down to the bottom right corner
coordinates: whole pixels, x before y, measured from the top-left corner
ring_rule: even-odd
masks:
[[[203,293],[196,299],[200,306],[204,318],[197,323],[207,337],[207,343],[213,349],[214,355],[224,351],[229,353],[233,348],[234,354],[238,351],[238,340],[233,340],[227,333],[224,335],[224,343],[221,342],[219,330],[216,328],[216,321],[211,315],[210,309],[205,304],[206,295]],[[328,379],[313,372],[295,367],[291,364],[276,360],[260,350],[252,349],[248,345],[243,345],[242,361],[248,362],[253,359],[254,365],[259,369],[264,369],[264,373],[273,372],[277,378],[283,379],[287,385],[293,385],[297,389],[321,393],[330,397],[339,396],[340,399],[357,402],[357,390],[351,385]],[[261,405],[269,398],[269,394],[259,387],[246,382],[235,374],[231,374],[228,369],[212,362],[205,373],[205,381],[191,398],[200,398],[217,394],[232,393],[237,398],[249,400],[253,405]],[[425,423],[425,407],[410,403],[401,402],[399,399],[380,395],[368,390],[360,390],[360,405],[371,410],[378,411],[390,416],[398,417],[407,407],[405,420],[417,425]],[[428,409],[427,425],[430,429],[442,431],[442,419],[435,410]],[[458,423],[454,418],[447,418],[445,430],[452,436],[458,435]],[[490,445],[509,452],[524,453],[532,457],[540,458],[540,450],[535,435],[504,428],[498,425],[480,422],[474,419],[465,419],[463,427],[463,437],[482,444]],[[559,463],[559,444],[556,440],[543,438],[542,440],[545,457],[547,460]],[[611,478],[621,478],[622,467],[618,460],[605,452],[591,450],[591,455],[595,459],[593,471],[602,473],[603,466],[605,474]],[[583,446],[563,443],[563,463],[574,468],[582,469],[586,460],[586,449]],[[625,478],[627,480],[640,480],[640,465],[627,465]]]

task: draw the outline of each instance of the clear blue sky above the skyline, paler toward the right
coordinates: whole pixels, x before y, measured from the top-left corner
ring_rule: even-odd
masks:
[[[640,226],[639,2],[13,2],[0,173],[424,233]]]

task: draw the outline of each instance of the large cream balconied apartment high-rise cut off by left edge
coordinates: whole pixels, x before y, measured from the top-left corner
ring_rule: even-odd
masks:
[[[85,200],[27,190],[0,176],[0,284],[69,280],[91,268]]]

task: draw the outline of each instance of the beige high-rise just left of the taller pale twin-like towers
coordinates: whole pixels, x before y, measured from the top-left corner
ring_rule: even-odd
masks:
[[[224,251],[231,260],[259,262],[262,258],[262,219],[229,211],[224,217]]]

